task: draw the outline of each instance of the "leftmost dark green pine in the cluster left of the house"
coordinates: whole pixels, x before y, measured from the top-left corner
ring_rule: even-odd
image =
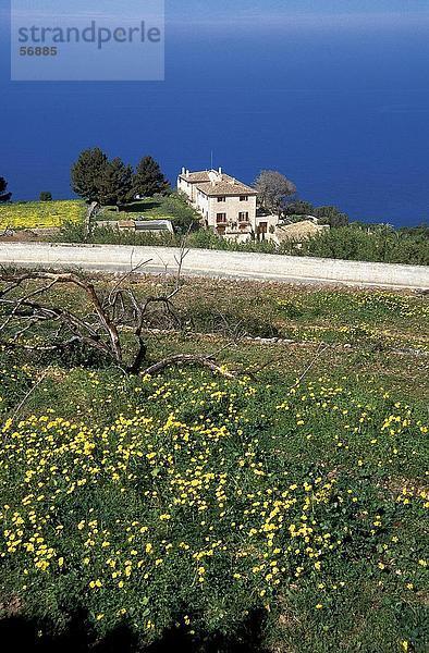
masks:
[[[109,160],[99,147],[81,152],[72,167],[72,188],[87,201],[100,202],[100,186]]]

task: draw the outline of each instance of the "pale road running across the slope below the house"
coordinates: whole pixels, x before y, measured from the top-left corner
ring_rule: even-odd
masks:
[[[79,268],[100,272],[125,272],[150,261],[140,272],[177,268],[180,252],[173,247],[128,247],[118,245],[62,245],[49,243],[0,243],[0,264]],[[354,286],[429,288],[429,267],[396,266],[290,257],[270,254],[191,249],[184,274],[230,279],[254,279],[305,283],[340,283]]]

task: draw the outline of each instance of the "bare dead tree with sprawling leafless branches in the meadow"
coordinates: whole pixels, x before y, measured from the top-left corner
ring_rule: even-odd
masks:
[[[126,280],[149,261],[131,267],[108,292],[97,291],[85,276],[76,273],[45,271],[0,272],[0,344],[5,348],[23,348],[38,353],[61,352],[81,344],[99,352],[127,373],[138,373],[147,358],[146,333],[150,328],[150,311],[162,307],[168,319],[181,325],[174,298],[182,288],[185,243],[176,257],[177,272],[173,286],[163,286],[162,294],[137,297],[125,285]],[[81,315],[59,306],[54,291],[74,287],[85,298],[87,312]],[[81,296],[82,296],[81,295]],[[126,354],[124,334],[132,332],[135,350]],[[41,341],[41,342],[40,342]],[[154,374],[169,366],[199,365],[225,377],[232,377],[217,366],[212,356],[173,355],[147,368]]]

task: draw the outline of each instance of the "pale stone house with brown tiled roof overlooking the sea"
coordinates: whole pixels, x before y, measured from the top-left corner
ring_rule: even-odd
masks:
[[[268,232],[267,221],[257,218],[257,190],[221,168],[201,172],[183,168],[177,189],[200,213],[204,225],[221,236],[245,242],[261,234],[263,229]]]

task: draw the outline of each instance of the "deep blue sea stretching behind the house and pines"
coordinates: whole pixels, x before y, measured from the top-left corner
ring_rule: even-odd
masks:
[[[71,197],[70,165],[95,145],[222,167],[250,183],[283,172],[299,197],[352,219],[429,217],[428,23],[168,23],[157,83],[12,83],[0,30],[0,175],[14,199]]]

